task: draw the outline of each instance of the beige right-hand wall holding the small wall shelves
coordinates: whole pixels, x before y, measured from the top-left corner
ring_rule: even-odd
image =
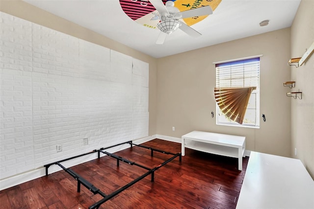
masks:
[[[302,56],[314,43],[313,12],[314,0],[302,0],[291,26],[291,58]],[[291,156],[301,159],[314,179],[314,54],[290,71],[302,91],[302,100],[291,100]]]

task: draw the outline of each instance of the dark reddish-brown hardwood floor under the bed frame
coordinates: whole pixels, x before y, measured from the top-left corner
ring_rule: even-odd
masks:
[[[154,139],[143,145],[178,153],[181,144]],[[132,150],[132,151],[131,151]],[[118,153],[121,157],[153,168],[172,157],[133,147]],[[175,158],[151,175],[105,202],[102,209],[235,209],[248,157],[243,170],[237,159],[185,149],[182,162]],[[72,167],[84,179],[110,194],[147,170],[105,156]],[[50,174],[0,191],[1,209],[87,209],[103,199],[84,186],[77,192],[77,181],[65,171]]]

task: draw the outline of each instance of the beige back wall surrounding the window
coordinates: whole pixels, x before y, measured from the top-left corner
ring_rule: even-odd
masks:
[[[210,37],[209,37],[210,38]],[[261,128],[216,125],[216,61],[261,57]],[[157,133],[181,138],[189,131],[246,136],[248,150],[290,157],[290,28],[158,59]],[[175,131],[172,131],[175,127]]]

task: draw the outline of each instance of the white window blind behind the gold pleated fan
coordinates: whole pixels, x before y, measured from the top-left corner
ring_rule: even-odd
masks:
[[[241,124],[234,122],[229,113],[222,111],[217,106],[217,124],[222,125],[241,125],[249,127],[259,127],[260,114],[260,57],[236,60],[231,62],[216,64],[216,89],[227,87],[256,87],[250,95],[248,95],[248,104],[244,119],[241,119]],[[236,95],[233,95],[233,101]],[[217,98],[216,101],[218,102]],[[228,101],[226,101],[228,102]],[[228,106],[228,105],[224,105]],[[236,107],[234,107],[236,108]],[[225,113],[224,113],[225,112]]]

